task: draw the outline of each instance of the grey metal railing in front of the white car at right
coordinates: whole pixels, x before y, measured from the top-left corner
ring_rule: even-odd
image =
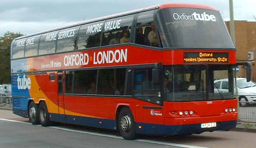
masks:
[[[242,103],[246,105],[243,107]],[[238,101],[238,121],[256,123],[256,102]]]

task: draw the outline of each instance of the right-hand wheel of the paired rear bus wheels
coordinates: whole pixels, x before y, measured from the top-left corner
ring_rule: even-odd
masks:
[[[48,126],[50,123],[49,113],[44,101],[40,102],[39,104],[39,121],[42,126]]]

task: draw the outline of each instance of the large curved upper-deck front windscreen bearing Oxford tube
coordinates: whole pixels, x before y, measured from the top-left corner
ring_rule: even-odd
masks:
[[[166,8],[156,12],[163,47],[234,48],[219,11]]]

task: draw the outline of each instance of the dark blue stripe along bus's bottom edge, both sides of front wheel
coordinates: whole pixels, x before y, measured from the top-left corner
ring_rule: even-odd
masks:
[[[72,115],[58,115],[50,114],[51,121],[65,122],[68,124],[91,126],[95,128],[113,129],[116,130],[115,120],[110,119],[99,119],[92,117],[81,117]],[[62,119],[62,120],[61,120]],[[99,122],[102,122],[101,124]],[[190,124],[190,125],[160,125],[160,124],[148,124],[136,122],[136,133],[149,134],[149,135],[185,135],[185,134],[200,134],[205,131],[216,131],[216,130],[230,130],[236,127],[237,121],[224,121],[216,122],[214,128],[201,128],[201,124]],[[142,128],[139,129],[138,126]]]

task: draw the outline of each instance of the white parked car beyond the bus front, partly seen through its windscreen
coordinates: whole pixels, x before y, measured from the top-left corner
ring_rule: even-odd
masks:
[[[228,92],[228,79],[215,80],[214,83],[219,87],[220,92]],[[237,78],[237,87],[234,90],[240,102],[240,106],[248,106],[246,102],[256,102],[256,84],[252,81],[247,82],[246,78]],[[218,92],[214,88],[214,92]]]

